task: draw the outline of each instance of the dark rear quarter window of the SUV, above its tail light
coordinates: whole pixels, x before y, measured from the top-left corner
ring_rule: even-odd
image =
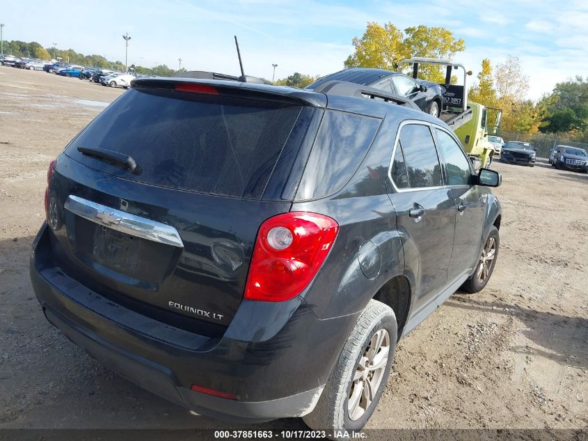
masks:
[[[376,118],[326,111],[296,199],[315,199],[340,190],[359,167],[379,125]]]

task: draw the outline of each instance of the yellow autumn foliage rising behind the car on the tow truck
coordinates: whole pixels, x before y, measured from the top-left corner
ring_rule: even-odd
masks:
[[[466,43],[455,38],[452,31],[440,26],[411,26],[400,31],[394,24],[367,24],[361,38],[353,38],[355,52],[344,62],[346,68],[379,68],[396,70],[403,59],[427,56],[452,59],[466,49]],[[443,83],[445,75],[435,66],[422,66],[422,77]]]

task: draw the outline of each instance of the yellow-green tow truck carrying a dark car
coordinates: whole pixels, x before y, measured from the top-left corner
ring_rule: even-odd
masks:
[[[434,65],[445,68],[445,88],[443,94],[443,109],[439,118],[449,125],[461,141],[464,150],[470,156],[475,169],[488,167],[492,162],[494,148],[488,142],[488,109],[496,111],[495,123],[491,133],[498,132],[501,109],[487,108],[477,102],[468,101],[467,79],[472,75],[463,65],[450,60],[431,58],[411,58],[402,60],[397,70],[402,72],[406,65],[411,66],[413,78],[418,78],[419,67]],[[463,71],[463,84],[451,84],[454,71]]]

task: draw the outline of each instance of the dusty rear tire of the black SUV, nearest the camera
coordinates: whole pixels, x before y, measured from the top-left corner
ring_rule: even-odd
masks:
[[[379,370],[368,370],[371,378],[370,376],[363,378],[359,370],[360,362],[365,366],[369,363],[367,360],[374,357],[374,355],[370,355],[371,348],[369,346],[370,343],[374,344],[379,336],[383,337],[381,339],[382,349],[378,349],[374,355],[382,354],[387,347],[386,365]],[[370,419],[383,389],[386,388],[392,359],[394,359],[397,336],[398,325],[392,308],[377,300],[370,300],[343,346],[315,409],[302,417],[303,421],[314,430],[361,430]],[[384,358],[381,357],[381,359]],[[366,370],[363,369],[363,372]],[[356,375],[360,375],[360,377],[354,381],[353,378]],[[367,387],[368,382],[370,385],[375,385],[375,390]],[[361,387],[361,385],[365,386]],[[369,404],[366,403],[364,391],[367,393],[372,391],[372,401]],[[349,399],[352,392],[360,397],[360,401],[359,405],[354,408],[355,413],[350,415]],[[362,407],[362,403],[365,408]]]

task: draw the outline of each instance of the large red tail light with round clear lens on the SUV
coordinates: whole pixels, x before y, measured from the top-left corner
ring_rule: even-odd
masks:
[[[245,298],[283,302],[301,293],[321,268],[338,231],[334,219],[316,213],[267,219],[257,233]]]

